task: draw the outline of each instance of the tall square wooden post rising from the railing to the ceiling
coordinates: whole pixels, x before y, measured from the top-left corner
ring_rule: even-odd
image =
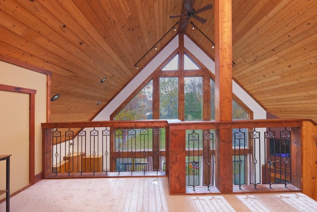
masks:
[[[232,0],[214,1],[215,120],[232,121]],[[215,186],[232,193],[232,129],[216,130]]]

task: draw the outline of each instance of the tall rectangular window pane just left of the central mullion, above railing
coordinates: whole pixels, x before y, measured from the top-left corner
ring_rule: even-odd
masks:
[[[178,78],[159,78],[159,118],[177,119]]]

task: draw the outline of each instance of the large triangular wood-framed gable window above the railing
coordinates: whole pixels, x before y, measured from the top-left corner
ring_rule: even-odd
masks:
[[[179,70],[182,67],[179,55],[171,57],[170,61],[167,61],[165,65],[161,66],[161,69],[149,77],[150,82],[139,93],[134,94],[133,99],[121,110],[115,112],[116,115],[113,119],[214,120],[215,84],[212,73],[199,61],[193,60],[190,54],[184,54],[183,59],[184,70]],[[207,77],[208,79],[206,79]],[[209,84],[206,83],[207,80]],[[156,88],[155,93],[153,93],[153,88]],[[154,99],[153,96],[155,96]],[[210,103],[204,104],[207,101]],[[249,113],[234,98],[232,119],[248,118]]]

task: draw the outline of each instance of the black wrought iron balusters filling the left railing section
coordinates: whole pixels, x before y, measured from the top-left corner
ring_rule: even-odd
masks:
[[[64,141],[62,133],[65,134]],[[111,139],[111,135],[113,138]],[[52,172],[57,174],[162,171],[165,135],[156,127],[143,129],[54,129]],[[113,167],[112,167],[113,166]]]

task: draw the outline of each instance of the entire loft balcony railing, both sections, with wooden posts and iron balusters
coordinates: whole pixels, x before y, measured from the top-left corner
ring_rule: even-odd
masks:
[[[166,175],[170,194],[302,191],[316,200],[317,125],[310,120],[67,122],[42,129],[46,179]]]

